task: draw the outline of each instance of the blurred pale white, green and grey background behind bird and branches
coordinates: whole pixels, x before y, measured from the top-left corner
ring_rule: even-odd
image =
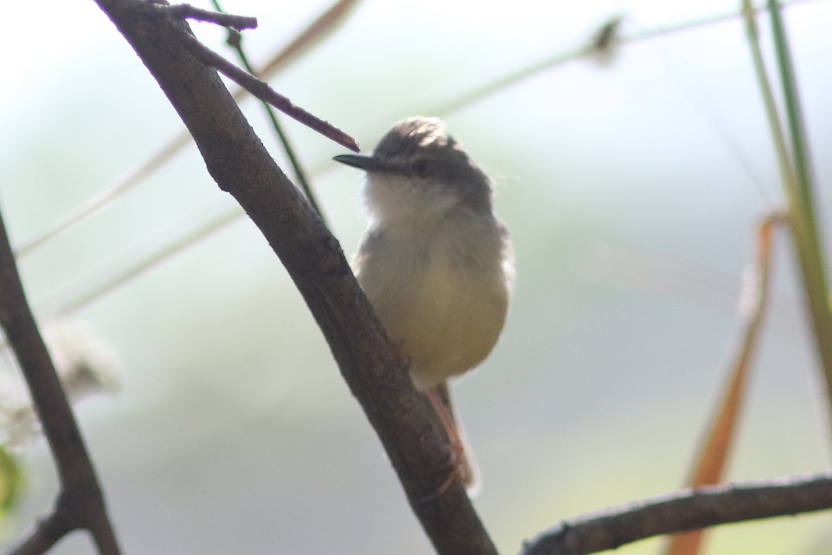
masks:
[[[328,3],[224,7],[259,18],[245,45],[264,62]],[[42,17],[25,2],[9,5],[15,24],[0,35],[0,202],[17,242],[181,129],[93,2],[38,7]],[[577,59],[452,114],[434,112],[582,45],[611,15],[625,16],[626,36],[738,8],[717,0],[366,0],[271,81],[368,151],[400,117],[446,116],[498,181],[498,213],[517,250],[516,294],[498,347],[454,390],[483,471],[476,506],[501,553],[563,518],[681,485],[737,339],[755,221],[782,195],[738,18],[626,43],[612,62]],[[832,2],[800,2],[785,17],[826,224]],[[192,26],[234,57],[225,32]],[[287,168],[260,107],[243,106]],[[359,172],[330,161],[342,148],[284,121],[351,252],[364,229]],[[230,210],[230,196],[189,146],[21,261],[38,315],[48,320],[116,268]],[[830,463],[825,400],[783,233],[775,253],[731,479]],[[300,295],[245,218],[72,320],[92,325],[121,359],[121,393],[77,411],[126,553],[431,553]],[[14,371],[7,355],[0,364]],[[22,458],[27,490],[0,543],[55,492],[43,442]],[[724,527],[709,553],[829,553],[830,523],[821,513]],[[74,535],[53,553],[92,547]]]

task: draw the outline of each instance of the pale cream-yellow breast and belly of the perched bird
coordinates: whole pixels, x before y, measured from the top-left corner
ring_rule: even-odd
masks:
[[[359,283],[391,338],[402,342],[418,389],[475,367],[503,329],[510,245],[502,225],[492,223],[476,233],[448,235],[441,225],[404,233],[409,240],[371,230],[365,244],[372,248],[359,250]]]

